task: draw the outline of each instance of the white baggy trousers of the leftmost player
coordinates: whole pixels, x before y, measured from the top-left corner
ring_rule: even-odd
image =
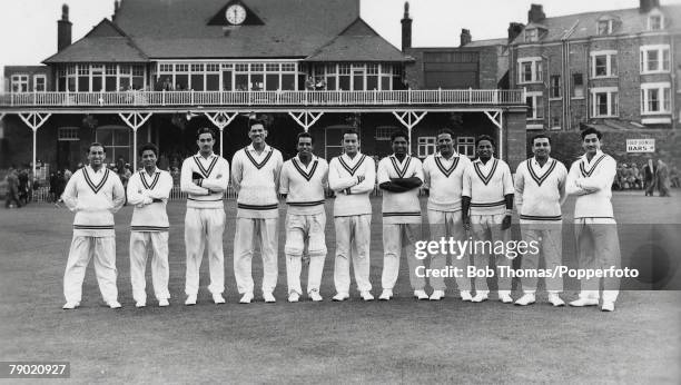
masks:
[[[73,236],[63,273],[63,296],[68,303],[81,300],[86,268],[92,257],[95,257],[95,274],[101,297],[107,304],[118,300],[116,238]]]

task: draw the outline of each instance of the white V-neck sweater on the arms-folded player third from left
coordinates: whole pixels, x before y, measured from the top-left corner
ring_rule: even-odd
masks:
[[[199,185],[194,184],[194,174],[200,175]],[[200,152],[182,161],[180,190],[188,192],[187,207],[223,208],[223,197],[229,184],[229,162],[210,154],[204,158]]]

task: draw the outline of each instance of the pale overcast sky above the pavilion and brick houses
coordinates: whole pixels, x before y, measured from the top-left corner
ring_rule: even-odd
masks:
[[[114,0],[0,0],[0,67],[34,66],[53,55],[65,2],[73,41],[114,12]],[[639,6],[639,0],[409,0],[412,46],[457,47],[462,28],[470,29],[474,40],[506,37],[509,22],[527,22],[533,2],[543,4],[547,17]],[[361,0],[362,18],[395,47],[401,47],[403,10],[404,0]]]

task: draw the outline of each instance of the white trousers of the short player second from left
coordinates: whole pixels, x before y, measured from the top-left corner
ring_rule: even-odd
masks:
[[[151,249],[151,283],[156,299],[168,299],[168,231],[131,231],[130,233],[130,282],[132,298],[139,303],[147,302],[147,257]]]

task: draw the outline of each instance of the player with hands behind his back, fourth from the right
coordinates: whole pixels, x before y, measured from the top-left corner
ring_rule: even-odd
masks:
[[[467,156],[454,150],[454,134],[444,129],[437,134],[436,154],[430,155],[423,161],[424,187],[428,195],[427,210],[431,238],[441,241],[443,238],[466,240],[466,231],[462,220],[461,195],[463,191],[464,170],[472,167]],[[447,263],[446,255],[440,253],[431,256],[431,269],[443,269]],[[462,274],[457,276],[456,285],[461,299],[471,300],[471,278],[466,269],[471,256],[452,255],[452,265],[458,267]],[[446,285],[443,277],[431,277],[431,300],[444,298]]]

